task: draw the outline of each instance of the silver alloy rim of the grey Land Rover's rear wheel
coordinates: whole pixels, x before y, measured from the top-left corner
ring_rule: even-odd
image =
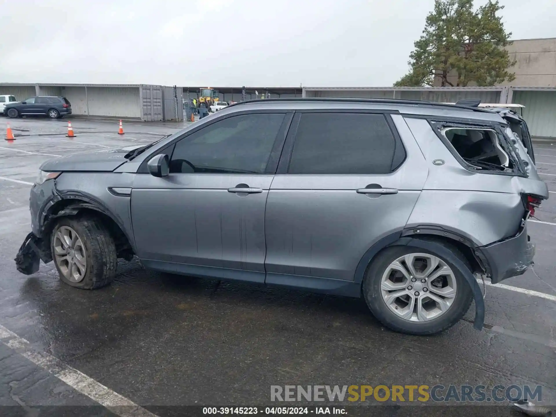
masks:
[[[454,272],[446,262],[421,253],[391,262],[381,277],[380,288],[389,309],[409,321],[429,321],[443,315],[458,291]]]

